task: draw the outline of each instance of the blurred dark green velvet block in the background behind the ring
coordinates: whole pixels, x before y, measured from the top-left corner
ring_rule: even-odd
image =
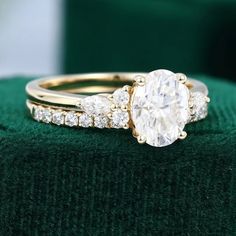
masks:
[[[66,73],[207,73],[236,80],[234,0],[65,0]]]

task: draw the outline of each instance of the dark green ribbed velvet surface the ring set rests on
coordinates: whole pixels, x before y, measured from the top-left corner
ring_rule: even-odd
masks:
[[[236,85],[198,78],[209,116],[165,148],[37,123],[29,79],[0,81],[0,235],[234,235]]]

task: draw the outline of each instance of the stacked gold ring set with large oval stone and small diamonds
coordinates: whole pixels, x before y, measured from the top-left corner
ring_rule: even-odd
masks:
[[[36,121],[130,128],[139,143],[154,147],[186,138],[185,125],[204,119],[210,101],[205,84],[168,70],[48,77],[29,82],[26,92]]]

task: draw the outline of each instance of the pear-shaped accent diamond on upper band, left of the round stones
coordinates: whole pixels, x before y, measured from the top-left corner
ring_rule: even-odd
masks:
[[[106,115],[110,112],[111,101],[104,96],[94,95],[84,98],[81,106],[88,115]]]

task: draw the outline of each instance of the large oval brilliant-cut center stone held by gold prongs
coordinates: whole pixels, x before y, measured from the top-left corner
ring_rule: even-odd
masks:
[[[149,73],[145,85],[135,87],[131,103],[136,133],[155,147],[177,140],[189,119],[189,90],[168,70]]]

